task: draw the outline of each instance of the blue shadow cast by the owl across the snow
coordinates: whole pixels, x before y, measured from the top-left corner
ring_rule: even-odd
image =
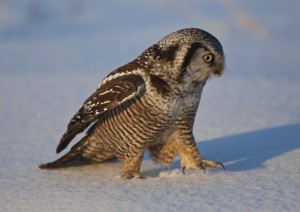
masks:
[[[228,171],[263,168],[267,160],[300,148],[300,124],[199,142],[197,147],[203,157],[221,161]]]

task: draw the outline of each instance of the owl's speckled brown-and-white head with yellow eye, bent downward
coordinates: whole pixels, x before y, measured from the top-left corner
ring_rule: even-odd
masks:
[[[167,35],[143,52],[138,61],[163,78],[200,82],[212,75],[221,76],[225,58],[221,43],[213,35],[188,28]]]

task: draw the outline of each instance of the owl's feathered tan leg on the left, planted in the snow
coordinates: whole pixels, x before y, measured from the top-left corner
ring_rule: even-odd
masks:
[[[121,176],[123,179],[142,178],[140,175],[144,153],[135,156],[125,156],[122,160]]]

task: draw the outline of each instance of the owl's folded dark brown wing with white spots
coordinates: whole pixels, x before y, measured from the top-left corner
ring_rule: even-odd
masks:
[[[145,82],[141,76],[126,74],[110,78],[100,84],[71,119],[67,131],[56,148],[57,153],[65,149],[78,133],[95,122],[99,115],[145,92]]]

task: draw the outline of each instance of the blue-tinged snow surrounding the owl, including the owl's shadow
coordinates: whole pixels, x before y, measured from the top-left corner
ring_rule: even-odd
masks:
[[[298,1],[239,1],[251,30],[230,4],[174,2],[0,1],[1,211],[300,210]],[[202,155],[225,171],[183,175],[178,158],[161,167],[148,155],[142,180],[122,180],[118,161],[38,168],[57,158],[68,121],[105,75],[189,26],[216,35],[227,58],[194,128]]]

